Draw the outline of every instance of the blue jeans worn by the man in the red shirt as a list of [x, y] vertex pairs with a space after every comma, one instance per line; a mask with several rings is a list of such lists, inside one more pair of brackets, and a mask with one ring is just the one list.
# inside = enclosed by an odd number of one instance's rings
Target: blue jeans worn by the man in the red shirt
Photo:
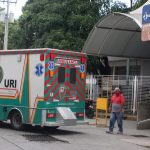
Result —
[[113, 131], [115, 122], [117, 120], [118, 128], [120, 132], [123, 132], [123, 113], [122, 112], [111, 112], [110, 114], [110, 124], [109, 131]]

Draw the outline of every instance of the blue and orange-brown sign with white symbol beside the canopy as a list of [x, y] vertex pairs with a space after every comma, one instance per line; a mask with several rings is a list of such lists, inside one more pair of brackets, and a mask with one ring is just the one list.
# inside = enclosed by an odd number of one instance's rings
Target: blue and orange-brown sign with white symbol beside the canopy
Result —
[[150, 4], [145, 5], [142, 10], [142, 41], [150, 41]]

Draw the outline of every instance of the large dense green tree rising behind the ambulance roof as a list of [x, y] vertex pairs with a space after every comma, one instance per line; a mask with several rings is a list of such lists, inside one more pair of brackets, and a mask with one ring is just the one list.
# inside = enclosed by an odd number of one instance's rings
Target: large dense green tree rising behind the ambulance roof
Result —
[[109, 12], [109, 0], [28, 0], [19, 19], [20, 45], [79, 51], [94, 24]]

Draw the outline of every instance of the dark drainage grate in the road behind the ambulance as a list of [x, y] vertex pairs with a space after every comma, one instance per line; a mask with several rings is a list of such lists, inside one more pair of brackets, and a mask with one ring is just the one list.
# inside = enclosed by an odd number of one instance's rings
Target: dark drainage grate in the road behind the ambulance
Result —
[[69, 143], [68, 141], [65, 140], [60, 140], [58, 138], [52, 137], [50, 135], [44, 135], [44, 134], [26, 134], [22, 135], [29, 141], [36, 141], [36, 142], [63, 142], [63, 143]]

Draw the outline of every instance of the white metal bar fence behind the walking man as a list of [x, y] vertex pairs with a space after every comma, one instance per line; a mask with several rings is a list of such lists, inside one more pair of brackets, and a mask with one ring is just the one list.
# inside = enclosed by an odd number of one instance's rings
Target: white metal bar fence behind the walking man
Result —
[[140, 103], [150, 104], [149, 76], [102, 76], [88, 75], [86, 79], [87, 99], [96, 101], [98, 97], [111, 98], [115, 87], [125, 96], [125, 112], [136, 113]]

